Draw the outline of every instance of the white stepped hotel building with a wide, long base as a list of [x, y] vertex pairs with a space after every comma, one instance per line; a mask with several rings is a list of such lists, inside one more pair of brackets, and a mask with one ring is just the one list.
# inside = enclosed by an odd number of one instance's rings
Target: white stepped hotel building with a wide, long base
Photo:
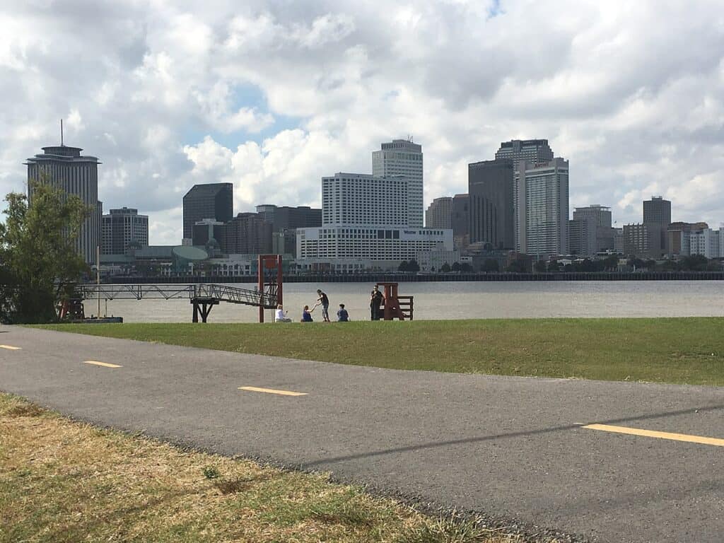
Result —
[[337, 173], [321, 185], [321, 227], [297, 230], [302, 269], [392, 270], [418, 251], [452, 251], [452, 230], [409, 224], [407, 177]]

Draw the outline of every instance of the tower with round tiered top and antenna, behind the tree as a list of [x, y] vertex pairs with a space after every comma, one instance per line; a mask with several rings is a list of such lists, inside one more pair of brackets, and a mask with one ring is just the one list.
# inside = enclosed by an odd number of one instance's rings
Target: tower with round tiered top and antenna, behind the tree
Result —
[[[61, 135], [62, 140], [62, 135]], [[33, 205], [33, 182], [48, 180], [51, 185], [78, 196], [91, 211], [85, 219], [75, 247], [88, 264], [95, 264], [96, 251], [101, 245], [101, 215], [103, 204], [98, 201], [98, 164], [95, 156], [81, 156], [81, 148], [43, 147], [43, 154], [33, 156], [28, 166], [28, 203]]]

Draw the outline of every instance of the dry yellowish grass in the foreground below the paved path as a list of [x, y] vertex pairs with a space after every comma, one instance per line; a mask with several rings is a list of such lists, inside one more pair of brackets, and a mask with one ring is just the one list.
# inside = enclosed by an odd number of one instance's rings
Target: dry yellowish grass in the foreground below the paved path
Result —
[[0, 542], [514, 543], [324, 474], [180, 450], [0, 394]]

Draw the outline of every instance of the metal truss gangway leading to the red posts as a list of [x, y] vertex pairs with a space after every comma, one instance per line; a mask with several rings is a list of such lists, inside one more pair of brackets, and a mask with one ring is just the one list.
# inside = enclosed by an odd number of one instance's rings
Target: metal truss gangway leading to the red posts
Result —
[[77, 285], [75, 296], [80, 300], [143, 300], [188, 298], [193, 305], [193, 322], [198, 322], [199, 313], [201, 321], [211, 313], [211, 308], [219, 302], [240, 303], [245, 306], [255, 306], [264, 309], [275, 309], [279, 296], [277, 285], [265, 285], [263, 291], [251, 290], [229, 285], [216, 285], [213, 283], [193, 284], [119, 284], [119, 285]]

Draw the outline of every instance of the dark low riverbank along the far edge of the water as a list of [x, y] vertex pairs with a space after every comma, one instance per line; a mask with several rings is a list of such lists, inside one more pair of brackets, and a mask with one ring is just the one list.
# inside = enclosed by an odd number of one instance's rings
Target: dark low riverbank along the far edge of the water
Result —
[[[287, 283], [375, 283], [375, 282], [449, 282], [449, 281], [720, 281], [724, 271], [556, 271], [552, 273], [487, 274], [287, 274]], [[256, 283], [256, 276], [185, 275], [177, 277], [106, 277], [104, 283]]]

